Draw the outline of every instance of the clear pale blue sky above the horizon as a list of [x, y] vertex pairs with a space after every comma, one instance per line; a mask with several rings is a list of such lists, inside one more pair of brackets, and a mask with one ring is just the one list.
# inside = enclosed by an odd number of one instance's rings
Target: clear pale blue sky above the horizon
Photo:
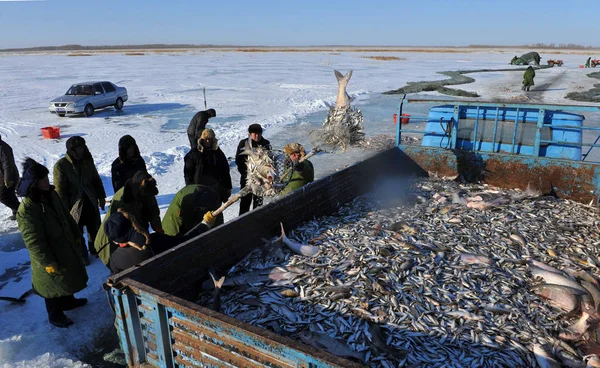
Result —
[[0, 48], [215, 45], [600, 46], [597, 0], [0, 0]]

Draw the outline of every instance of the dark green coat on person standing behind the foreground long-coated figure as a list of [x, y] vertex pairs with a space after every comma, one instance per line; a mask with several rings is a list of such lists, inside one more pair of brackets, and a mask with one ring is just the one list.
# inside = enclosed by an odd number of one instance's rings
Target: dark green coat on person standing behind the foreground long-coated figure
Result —
[[98, 209], [98, 199], [106, 198], [104, 186], [94, 159], [91, 155], [82, 160], [75, 160], [67, 152], [65, 157], [54, 164], [54, 185], [56, 192], [67, 206], [75, 222], [79, 222], [81, 211], [83, 210], [83, 200], [86, 198], [95, 209], [95, 216], [100, 222], [100, 211]]

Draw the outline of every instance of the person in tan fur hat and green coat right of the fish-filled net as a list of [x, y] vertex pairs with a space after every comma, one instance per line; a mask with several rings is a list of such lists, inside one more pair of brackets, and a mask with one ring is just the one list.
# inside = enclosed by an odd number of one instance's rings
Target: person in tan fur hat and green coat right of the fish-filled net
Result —
[[315, 170], [309, 160], [304, 160], [306, 151], [300, 143], [290, 143], [283, 147], [286, 154], [285, 172], [281, 180], [286, 183], [280, 195], [286, 195], [315, 180]]

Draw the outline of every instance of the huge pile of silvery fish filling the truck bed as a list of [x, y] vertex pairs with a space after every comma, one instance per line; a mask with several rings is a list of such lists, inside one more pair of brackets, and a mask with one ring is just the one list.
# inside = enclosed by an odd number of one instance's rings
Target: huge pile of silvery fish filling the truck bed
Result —
[[577, 286], [597, 283], [597, 208], [443, 179], [286, 234], [312, 256], [267, 241], [225, 275], [221, 312], [373, 367], [600, 361], [600, 293]]

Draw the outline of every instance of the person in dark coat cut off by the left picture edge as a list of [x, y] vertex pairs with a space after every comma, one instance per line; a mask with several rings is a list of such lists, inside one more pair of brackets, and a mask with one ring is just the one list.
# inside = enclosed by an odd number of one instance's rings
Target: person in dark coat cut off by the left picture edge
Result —
[[16, 220], [19, 200], [15, 186], [19, 181], [19, 170], [15, 164], [12, 148], [0, 137], [0, 203], [12, 210], [10, 220]]

